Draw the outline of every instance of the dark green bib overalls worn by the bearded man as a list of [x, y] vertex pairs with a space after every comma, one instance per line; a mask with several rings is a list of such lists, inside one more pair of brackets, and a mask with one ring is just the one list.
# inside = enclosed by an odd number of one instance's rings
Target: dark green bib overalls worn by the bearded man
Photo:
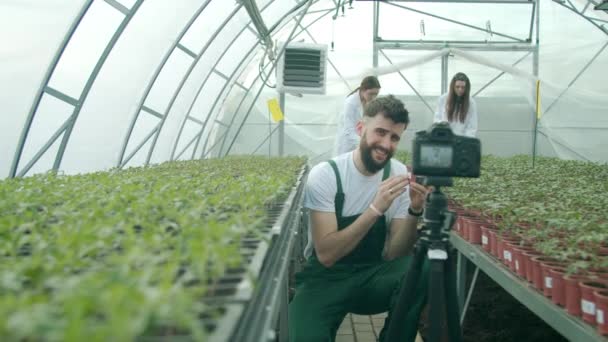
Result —
[[[338, 230], [348, 227], [359, 215], [343, 217], [344, 193], [338, 168], [329, 161], [336, 174], [335, 210]], [[390, 163], [382, 179], [390, 175]], [[335, 341], [336, 332], [347, 313], [374, 315], [388, 311], [384, 326], [388, 327], [400, 283], [407, 273], [410, 256], [391, 261], [382, 258], [387, 224], [378, 218], [367, 235], [348, 255], [332, 267], [323, 266], [313, 252], [304, 269], [296, 275], [296, 293], [289, 304], [289, 340], [297, 342]], [[418, 317], [426, 302], [428, 262], [416, 288], [416, 303], [403, 321], [406, 341], [414, 341]], [[386, 329], [380, 341], [386, 339]], [[391, 341], [392, 342], [392, 341]]]

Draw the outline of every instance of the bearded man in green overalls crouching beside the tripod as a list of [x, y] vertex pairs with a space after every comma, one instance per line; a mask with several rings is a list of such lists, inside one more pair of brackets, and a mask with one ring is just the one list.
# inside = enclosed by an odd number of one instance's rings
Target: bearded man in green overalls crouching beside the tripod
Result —
[[[357, 124], [359, 147], [311, 169], [304, 193], [308, 262], [289, 304], [290, 341], [334, 341], [347, 313], [388, 311], [380, 333], [385, 341], [426, 194], [410, 182], [405, 165], [391, 159], [408, 123], [401, 101], [376, 98]], [[398, 322], [407, 341], [416, 337], [427, 284], [425, 263], [416, 303]]]

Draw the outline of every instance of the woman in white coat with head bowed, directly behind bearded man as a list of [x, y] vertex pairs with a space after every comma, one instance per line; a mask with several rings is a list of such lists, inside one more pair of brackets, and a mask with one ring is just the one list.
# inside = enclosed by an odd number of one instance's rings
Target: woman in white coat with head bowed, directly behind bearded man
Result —
[[355, 129], [363, 116], [363, 107], [375, 99], [380, 92], [380, 81], [376, 76], [367, 76], [361, 85], [348, 95], [338, 117], [338, 129], [334, 143], [334, 154], [350, 152], [359, 146], [359, 135]]

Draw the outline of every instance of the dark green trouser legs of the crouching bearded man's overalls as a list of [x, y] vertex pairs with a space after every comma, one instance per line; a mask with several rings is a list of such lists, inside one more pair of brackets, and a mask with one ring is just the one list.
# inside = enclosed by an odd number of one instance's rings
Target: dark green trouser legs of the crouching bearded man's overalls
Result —
[[[312, 262], [296, 275], [296, 294], [289, 304], [289, 340], [334, 341], [348, 313], [374, 315], [388, 311], [380, 341], [386, 340], [401, 282], [412, 257], [401, 257], [376, 265], [334, 265], [325, 268]], [[423, 265], [414, 294], [415, 304], [403, 322], [406, 341], [414, 341], [418, 318], [428, 289], [428, 261]], [[392, 342], [392, 341], [391, 341]]]

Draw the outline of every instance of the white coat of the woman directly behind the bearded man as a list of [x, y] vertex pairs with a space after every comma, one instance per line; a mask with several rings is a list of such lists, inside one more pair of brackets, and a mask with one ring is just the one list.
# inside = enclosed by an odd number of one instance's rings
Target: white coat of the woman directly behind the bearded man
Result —
[[344, 101], [344, 108], [338, 118], [336, 140], [334, 143], [334, 155], [353, 151], [359, 146], [359, 134], [357, 134], [357, 122], [363, 116], [363, 104], [359, 97], [359, 91], [349, 95]]

